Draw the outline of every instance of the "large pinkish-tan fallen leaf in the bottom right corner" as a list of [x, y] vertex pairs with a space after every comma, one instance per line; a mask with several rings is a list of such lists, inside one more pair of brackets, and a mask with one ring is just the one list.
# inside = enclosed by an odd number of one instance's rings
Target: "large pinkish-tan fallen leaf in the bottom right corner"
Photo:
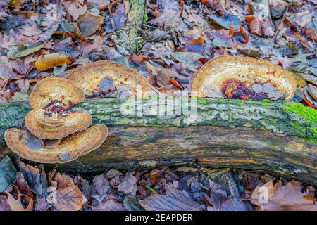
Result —
[[282, 181], [276, 184], [273, 180], [268, 181], [261, 187], [257, 186], [251, 198], [259, 211], [317, 211], [315, 198], [307, 190], [302, 193], [299, 181], [290, 181], [285, 186], [282, 186]]

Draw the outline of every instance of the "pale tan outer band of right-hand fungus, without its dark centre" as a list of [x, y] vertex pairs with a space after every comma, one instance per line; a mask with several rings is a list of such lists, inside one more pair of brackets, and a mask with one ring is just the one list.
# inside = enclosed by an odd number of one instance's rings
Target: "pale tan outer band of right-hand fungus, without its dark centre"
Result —
[[252, 84], [271, 84], [285, 100], [292, 98], [297, 89], [297, 81], [291, 72], [267, 60], [220, 56], [209, 60], [194, 74], [192, 95], [211, 97], [211, 91], [224, 94], [224, 86], [229, 83], [247, 88]]

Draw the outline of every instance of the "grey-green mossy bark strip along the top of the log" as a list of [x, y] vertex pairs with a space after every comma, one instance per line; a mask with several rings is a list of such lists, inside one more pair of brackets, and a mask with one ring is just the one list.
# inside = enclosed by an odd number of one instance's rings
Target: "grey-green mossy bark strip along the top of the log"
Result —
[[[187, 127], [190, 125], [211, 125], [216, 127], [247, 126], [266, 129], [274, 133], [284, 133], [304, 137], [310, 142], [317, 141], [317, 112], [301, 103], [244, 101], [221, 98], [196, 98], [197, 120], [186, 115], [123, 115], [124, 107], [134, 106], [134, 99], [93, 98], [75, 105], [73, 110], [87, 110], [92, 114], [94, 124], [107, 126], [149, 126]], [[161, 98], [152, 101], [161, 101]], [[144, 100], [147, 103], [149, 100]], [[183, 101], [187, 101], [185, 98]], [[163, 101], [163, 104], [164, 101]], [[189, 103], [190, 105], [190, 103]], [[26, 102], [0, 105], [0, 143], [4, 143], [4, 131], [10, 127], [21, 127], [24, 117], [31, 110]]]

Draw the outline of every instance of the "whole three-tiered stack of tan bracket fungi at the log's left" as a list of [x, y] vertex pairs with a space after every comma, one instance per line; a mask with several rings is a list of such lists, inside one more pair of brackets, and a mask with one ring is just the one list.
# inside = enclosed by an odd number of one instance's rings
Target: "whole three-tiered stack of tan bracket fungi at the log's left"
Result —
[[6, 130], [8, 147], [27, 160], [42, 163], [69, 162], [98, 148], [108, 136], [108, 128], [101, 124], [89, 127], [92, 116], [74, 110], [84, 98], [84, 91], [69, 79], [49, 77], [37, 82], [25, 128]]

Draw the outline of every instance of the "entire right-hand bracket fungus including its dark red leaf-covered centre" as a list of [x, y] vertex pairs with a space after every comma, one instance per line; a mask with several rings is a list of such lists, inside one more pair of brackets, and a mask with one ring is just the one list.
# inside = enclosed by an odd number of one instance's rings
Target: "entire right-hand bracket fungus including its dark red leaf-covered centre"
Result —
[[294, 96], [297, 81], [291, 72], [266, 60], [220, 56], [192, 77], [191, 88], [199, 97], [287, 100]]

